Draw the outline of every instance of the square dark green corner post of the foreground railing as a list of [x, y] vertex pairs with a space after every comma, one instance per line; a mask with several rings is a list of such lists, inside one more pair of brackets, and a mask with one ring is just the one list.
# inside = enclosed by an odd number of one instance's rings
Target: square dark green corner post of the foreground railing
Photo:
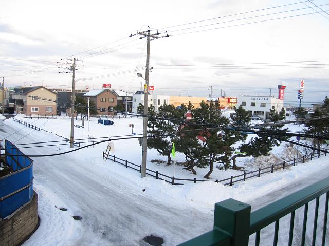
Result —
[[232, 236], [232, 245], [248, 245], [251, 206], [234, 199], [215, 204], [214, 230]]

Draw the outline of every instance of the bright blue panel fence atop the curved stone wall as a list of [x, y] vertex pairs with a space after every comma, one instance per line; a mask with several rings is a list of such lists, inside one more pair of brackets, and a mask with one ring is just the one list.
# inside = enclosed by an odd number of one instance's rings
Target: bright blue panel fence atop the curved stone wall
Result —
[[33, 198], [33, 160], [8, 140], [5, 140], [5, 154], [11, 172], [0, 177], [0, 220], [13, 215]]

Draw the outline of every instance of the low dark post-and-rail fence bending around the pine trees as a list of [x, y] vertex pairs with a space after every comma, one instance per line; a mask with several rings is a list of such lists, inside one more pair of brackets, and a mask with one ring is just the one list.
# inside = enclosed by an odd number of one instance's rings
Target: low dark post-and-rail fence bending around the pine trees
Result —
[[[254, 178], [254, 177], [261, 177], [262, 174], [265, 173], [273, 173], [274, 171], [277, 170], [281, 170], [281, 169], [286, 169], [288, 167], [291, 166], [296, 166], [298, 163], [304, 163], [306, 160], [313, 160], [314, 158], [320, 158], [320, 156], [326, 156], [326, 152], [324, 153], [318, 153], [316, 155], [313, 155], [313, 153], [311, 153], [309, 156], [302, 156], [302, 157], [298, 157], [294, 158], [292, 160], [289, 161], [283, 161], [281, 163], [278, 163], [276, 165], [271, 165], [265, 168], [259, 168], [258, 170], [254, 170], [254, 171], [250, 171], [250, 172], [244, 172], [243, 174], [240, 175], [236, 175], [236, 176], [231, 176], [229, 178], [225, 178], [225, 179], [221, 179], [218, 180], [216, 179], [217, 183], [224, 183], [225, 186], [232, 186], [234, 183], [236, 182], [241, 182], [241, 181], [246, 181], [249, 178]], [[124, 160], [121, 158], [116, 157], [115, 155], [109, 155], [109, 154], [105, 154], [105, 152], [103, 151], [103, 157], [109, 160], [113, 160], [113, 162], [117, 162], [123, 166], [125, 166], [126, 168], [131, 168], [134, 169], [136, 171], [139, 171], [141, 173], [141, 165], [137, 165], [135, 163], [132, 163], [128, 160]], [[146, 169], [147, 172], [146, 174], [155, 177], [156, 179], [161, 179], [161, 180], [165, 180], [168, 183], [171, 183], [172, 185], [184, 185], [183, 183], [179, 183], [177, 181], [191, 181], [191, 182], [205, 182], [205, 181], [210, 181], [210, 180], [203, 180], [203, 179], [188, 179], [188, 178], [175, 178], [174, 176], [170, 177], [168, 175], [162, 174], [158, 171], [154, 171], [151, 169]], [[148, 172], [149, 171], [149, 172]]]

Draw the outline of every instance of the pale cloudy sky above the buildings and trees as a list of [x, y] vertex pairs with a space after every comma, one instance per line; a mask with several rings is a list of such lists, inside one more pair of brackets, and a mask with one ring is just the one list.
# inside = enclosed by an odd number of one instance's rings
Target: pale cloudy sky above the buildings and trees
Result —
[[329, 94], [328, 28], [322, 0], [3, 0], [0, 71], [7, 87], [70, 88], [65, 68], [77, 58], [76, 88], [135, 93], [146, 38], [129, 36], [150, 29], [160, 33], [150, 44], [155, 94], [277, 97], [284, 83], [285, 103], [296, 105], [304, 79], [306, 106]]

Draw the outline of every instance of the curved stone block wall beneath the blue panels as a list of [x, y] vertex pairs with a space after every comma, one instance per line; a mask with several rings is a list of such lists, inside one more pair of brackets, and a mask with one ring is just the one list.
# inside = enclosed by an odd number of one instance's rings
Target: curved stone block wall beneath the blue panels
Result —
[[38, 228], [38, 195], [9, 219], [0, 221], [0, 245], [17, 246], [25, 242]]

